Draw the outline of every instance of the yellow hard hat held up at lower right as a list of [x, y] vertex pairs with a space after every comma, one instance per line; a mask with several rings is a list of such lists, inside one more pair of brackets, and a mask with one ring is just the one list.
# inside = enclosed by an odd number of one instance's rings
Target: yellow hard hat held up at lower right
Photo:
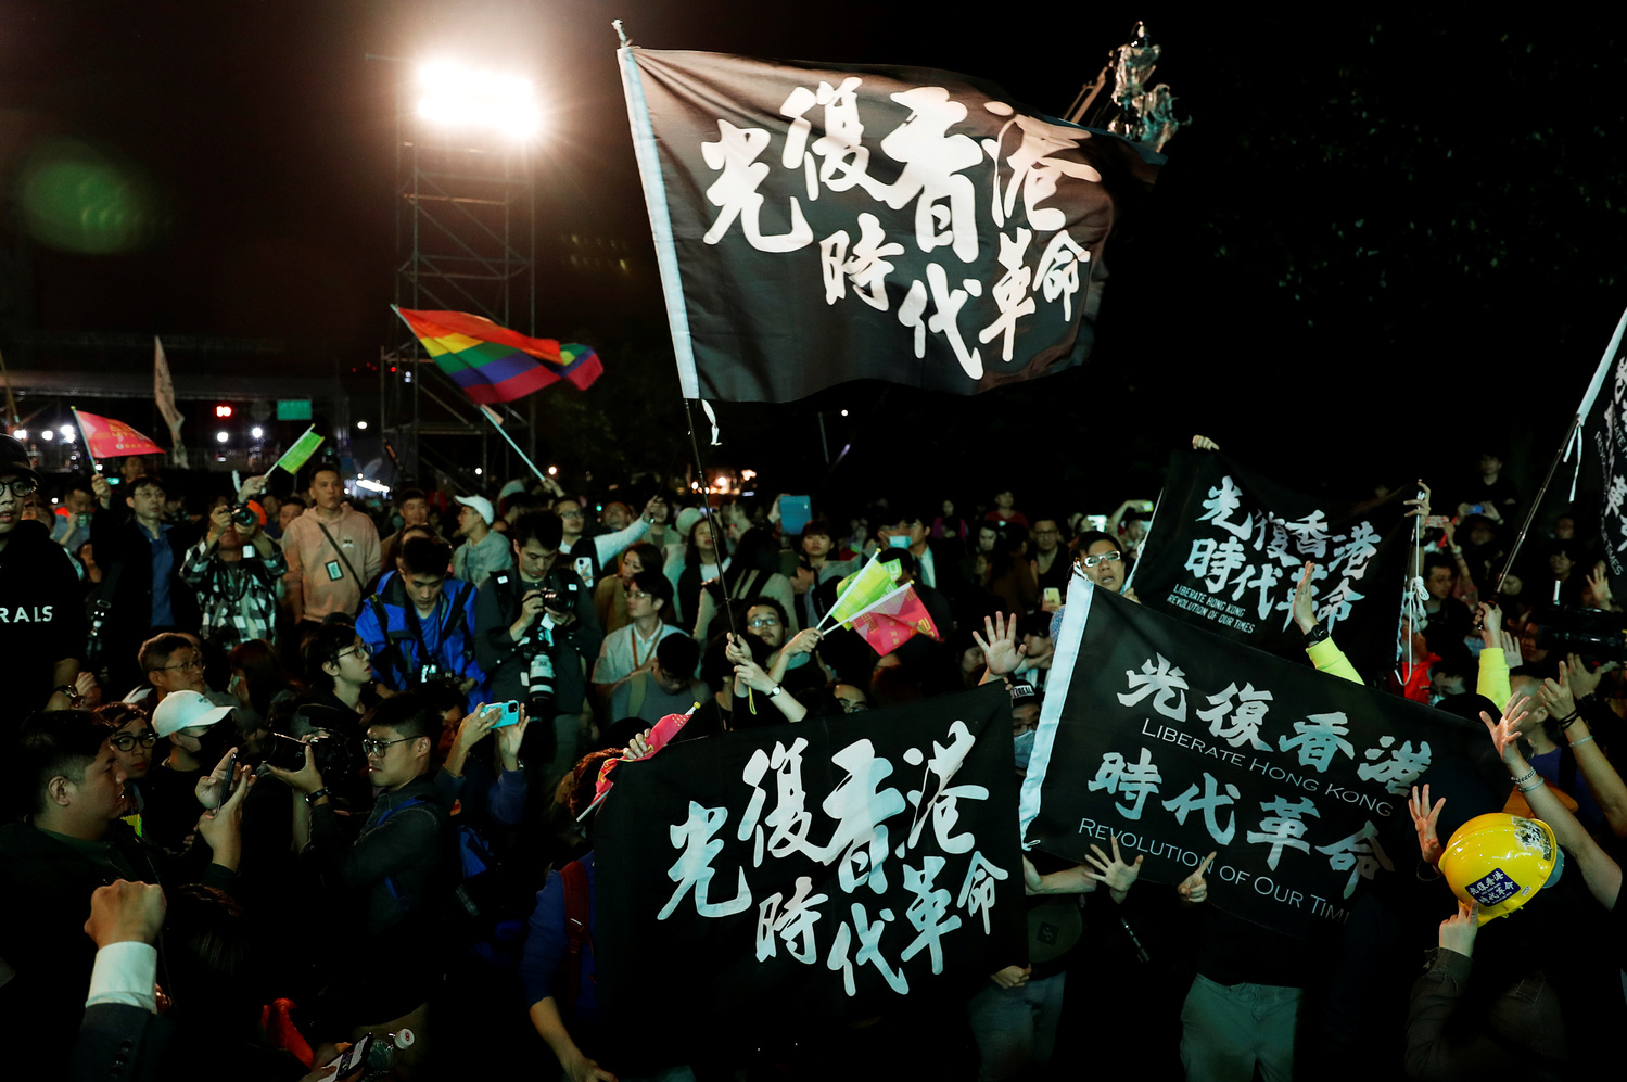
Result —
[[1481, 924], [1507, 916], [1559, 880], [1565, 854], [1539, 818], [1507, 812], [1476, 815], [1453, 835], [1440, 857], [1451, 893], [1481, 906]]

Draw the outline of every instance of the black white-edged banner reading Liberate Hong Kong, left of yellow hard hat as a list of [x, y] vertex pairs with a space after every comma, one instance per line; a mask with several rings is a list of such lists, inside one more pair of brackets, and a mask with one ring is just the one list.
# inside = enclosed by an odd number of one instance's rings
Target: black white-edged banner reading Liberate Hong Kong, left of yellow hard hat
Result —
[[1489, 753], [1479, 722], [1075, 578], [1022, 788], [1023, 843], [1079, 861], [1116, 833], [1150, 883], [1178, 883], [1217, 851], [1215, 906], [1305, 936], [1344, 921], [1365, 880], [1414, 874], [1414, 783], [1446, 797], [1442, 840], [1500, 809], [1508, 779], [1485, 770]]

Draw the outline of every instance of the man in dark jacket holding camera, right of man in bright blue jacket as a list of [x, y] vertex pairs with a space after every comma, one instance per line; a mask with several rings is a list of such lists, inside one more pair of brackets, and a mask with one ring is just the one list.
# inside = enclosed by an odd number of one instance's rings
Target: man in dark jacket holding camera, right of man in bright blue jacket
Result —
[[582, 674], [604, 641], [592, 594], [560, 558], [563, 535], [553, 511], [514, 519], [514, 566], [493, 573], [475, 596], [475, 657], [491, 675], [491, 698], [519, 700], [532, 721], [552, 726], [550, 773], [576, 761], [587, 705]]

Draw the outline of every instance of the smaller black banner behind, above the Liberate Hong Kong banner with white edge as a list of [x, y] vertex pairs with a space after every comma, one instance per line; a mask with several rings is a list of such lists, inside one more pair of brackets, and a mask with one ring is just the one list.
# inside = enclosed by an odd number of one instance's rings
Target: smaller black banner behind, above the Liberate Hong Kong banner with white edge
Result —
[[1412, 521], [1407, 491], [1331, 504], [1217, 452], [1176, 451], [1131, 584], [1144, 605], [1305, 661], [1293, 589], [1316, 563], [1316, 617], [1363, 678], [1396, 664]]

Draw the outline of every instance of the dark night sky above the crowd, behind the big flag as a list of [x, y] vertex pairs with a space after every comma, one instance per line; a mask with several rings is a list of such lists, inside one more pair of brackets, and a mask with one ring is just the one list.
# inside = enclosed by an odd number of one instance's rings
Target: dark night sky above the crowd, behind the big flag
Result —
[[[0, 5], [0, 347], [10, 358], [23, 332], [277, 338], [290, 369], [356, 368], [364, 394], [376, 386], [364, 366], [397, 334], [394, 88], [408, 72], [364, 55], [485, 60], [529, 75], [548, 107], [537, 330], [605, 361], [586, 395], [543, 392], [547, 452], [568, 467], [665, 465], [682, 407], [617, 16], [652, 49], [940, 67], [1058, 114], [1142, 18], [1163, 46], [1154, 81], [1193, 117], [1110, 242], [1084, 369], [976, 399], [864, 386], [724, 407], [719, 460], [770, 486], [817, 491], [815, 410], [849, 407], [828, 418], [833, 444], [854, 443], [835, 486], [924, 478], [934, 496], [986, 498], [1014, 485], [1106, 511], [1152, 496], [1168, 447], [1204, 431], [1339, 495], [1459, 475], [1490, 441], [1529, 490], [1627, 304], [1619, 23], [1308, 23], [1171, 5], [991, 5], [957, 20], [945, 5], [844, 2], [50, 0]], [[129, 251], [63, 251], [31, 225], [29, 169], [63, 146], [129, 181]], [[573, 273], [569, 234], [626, 242], [633, 270]]]

